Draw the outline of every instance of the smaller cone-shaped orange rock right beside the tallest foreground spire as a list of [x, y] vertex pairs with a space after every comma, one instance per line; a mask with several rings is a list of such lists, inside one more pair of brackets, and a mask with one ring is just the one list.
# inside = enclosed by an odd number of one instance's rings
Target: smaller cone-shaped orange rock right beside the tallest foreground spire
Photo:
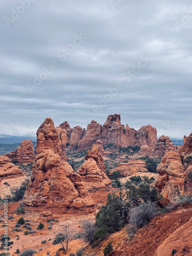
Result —
[[104, 161], [97, 145], [92, 146], [85, 159], [86, 161], [81, 165], [78, 173], [87, 189], [102, 188], [111, 184], [110, 179], [105, 174]]

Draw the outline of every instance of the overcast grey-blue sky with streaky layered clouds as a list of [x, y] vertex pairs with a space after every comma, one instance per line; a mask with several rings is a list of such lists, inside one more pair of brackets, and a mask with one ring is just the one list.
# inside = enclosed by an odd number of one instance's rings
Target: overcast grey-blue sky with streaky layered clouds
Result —
[[0, 0], [0, 134], [103, 124], [192, 132], [189, 0]]

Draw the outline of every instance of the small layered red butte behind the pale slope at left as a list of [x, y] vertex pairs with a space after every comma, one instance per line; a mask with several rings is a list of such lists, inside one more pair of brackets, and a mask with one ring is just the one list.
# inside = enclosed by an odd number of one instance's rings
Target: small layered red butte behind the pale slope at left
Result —
[[24, 140], [15, 151], [7, 153], [10, 160], [17, 160], [18, 163], [32, 163], [34, 160], [34, 148], [32, 140]]

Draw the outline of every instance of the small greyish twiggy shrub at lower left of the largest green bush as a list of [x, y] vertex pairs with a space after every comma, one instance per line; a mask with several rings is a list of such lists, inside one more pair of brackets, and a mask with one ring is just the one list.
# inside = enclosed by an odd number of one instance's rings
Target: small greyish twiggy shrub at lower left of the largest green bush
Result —
[[96, 231], [96, 225], [92, 220], [84, 220], [81, 225], [83, 231], [83, 240], [89, 244], [94, 242], [94, 233]]

